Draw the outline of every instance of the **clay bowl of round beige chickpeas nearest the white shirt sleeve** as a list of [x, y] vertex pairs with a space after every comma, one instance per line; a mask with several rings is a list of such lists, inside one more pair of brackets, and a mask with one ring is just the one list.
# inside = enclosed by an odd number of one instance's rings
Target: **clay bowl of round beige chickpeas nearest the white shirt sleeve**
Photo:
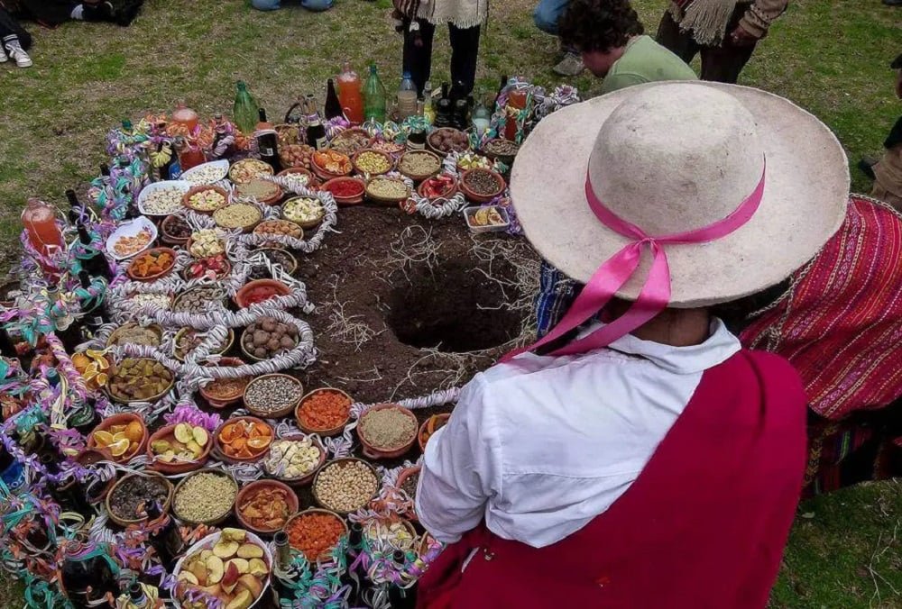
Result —
[[366, 507], [379, 492], [376, 470], [363, 459], [328, 462], [313, 479], [313, 498], [336, 514], [350, 514]]

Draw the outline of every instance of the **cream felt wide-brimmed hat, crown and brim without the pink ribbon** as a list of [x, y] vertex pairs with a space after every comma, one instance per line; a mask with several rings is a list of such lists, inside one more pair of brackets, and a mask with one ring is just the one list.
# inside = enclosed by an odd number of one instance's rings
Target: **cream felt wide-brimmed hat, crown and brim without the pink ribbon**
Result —
[[[635, 241], [586, 201], [586, 176], [613, 214], [650, 236], [723, 220], [758, 186], [758, 210], [734, 232], [664, 245], [669, 306], [729, 302], [773, 286], [815, 257], [845, 216], [848, 162], [833, 133], [792, 102], [710, 82], [631, 86], [567, 106], [520, 148], [511, 198], [543, 258], [587, 282]], [[636, 300], [651, 256], [617, 292]]]

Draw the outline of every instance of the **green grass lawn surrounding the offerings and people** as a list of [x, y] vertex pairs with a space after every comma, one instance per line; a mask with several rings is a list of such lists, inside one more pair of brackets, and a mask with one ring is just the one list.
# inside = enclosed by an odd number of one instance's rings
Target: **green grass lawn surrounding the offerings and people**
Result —
[[[286, 3], [288, 4], [288, 3]], [[637, 0], [649, 32], [665, 0]], [[358, 71], [375, 60], [386, 85], [400, 77], [400, 37], [389, 0], [338, 0], [326, 14], [290, 6], [253, 12], [242, 0], [148, 0], [131, 28], [70, 23], [30, 25], [34, 67], [0, 65], [0, 243], [15, 255], [18, 214], [38, 195], [64, 204], [106, 159], [106, 130], [124, 118], [171, 109], [184, 100], [208, 117], [230, 112], [236, 79], [246, 80], [273, 118], [298, 95], [325, 95], [342, 59]], [[501, 74], [545, 86], [557, 41], [532, 25], [526, 0], [496, 2], [483, 38], [479, 82]], [[902, 51], [902, 9], [879, 0], [794, 0], [742, 77], [742, 84], [786, 95], [837, 133], [854, 163], [879, 153], [902, 112], [888, 63]], [[433, 80], [447, 76], [447, 43], [437, 35]], [[586, 95], [592, 77], [573, 84]], [[870, 185], [857, 170], [853, 186]], [[777, 607], [902, 607], [902, 486], [859, 486], [804, 504], [773, 595]], [[0, 578], [0, 604], [22, 604]]]

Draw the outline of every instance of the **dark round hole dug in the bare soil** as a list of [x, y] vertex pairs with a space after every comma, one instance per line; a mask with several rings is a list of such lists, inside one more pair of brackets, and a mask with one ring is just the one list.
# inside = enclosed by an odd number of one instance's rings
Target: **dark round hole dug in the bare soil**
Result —
[[[503, 306], [520, 298], [519, 290], [502, 288], [476, 270], [489, 272], [478, 259], [442, 260], [435, 268], [419, 264], [392, 277], [388, 323], [398, 340], [418, 349], [463, 353], [502, 345], [520, 335], [521, 311]], [[495, 277], [511, 279], [513, 268], [492, 263]]]

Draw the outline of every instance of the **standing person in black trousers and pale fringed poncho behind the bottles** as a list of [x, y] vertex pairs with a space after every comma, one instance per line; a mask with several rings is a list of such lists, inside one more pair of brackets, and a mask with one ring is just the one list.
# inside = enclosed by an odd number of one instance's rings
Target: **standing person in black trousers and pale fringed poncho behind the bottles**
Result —
[[410, 72], [417, 95], [432, 74], [436, 26], [447, 23], [451, 42], [451, 97], [473, 92], [479, 36], [489, 14], [489, 0], [394, 0], [392, 16], [404, 35], [403, 70]]

